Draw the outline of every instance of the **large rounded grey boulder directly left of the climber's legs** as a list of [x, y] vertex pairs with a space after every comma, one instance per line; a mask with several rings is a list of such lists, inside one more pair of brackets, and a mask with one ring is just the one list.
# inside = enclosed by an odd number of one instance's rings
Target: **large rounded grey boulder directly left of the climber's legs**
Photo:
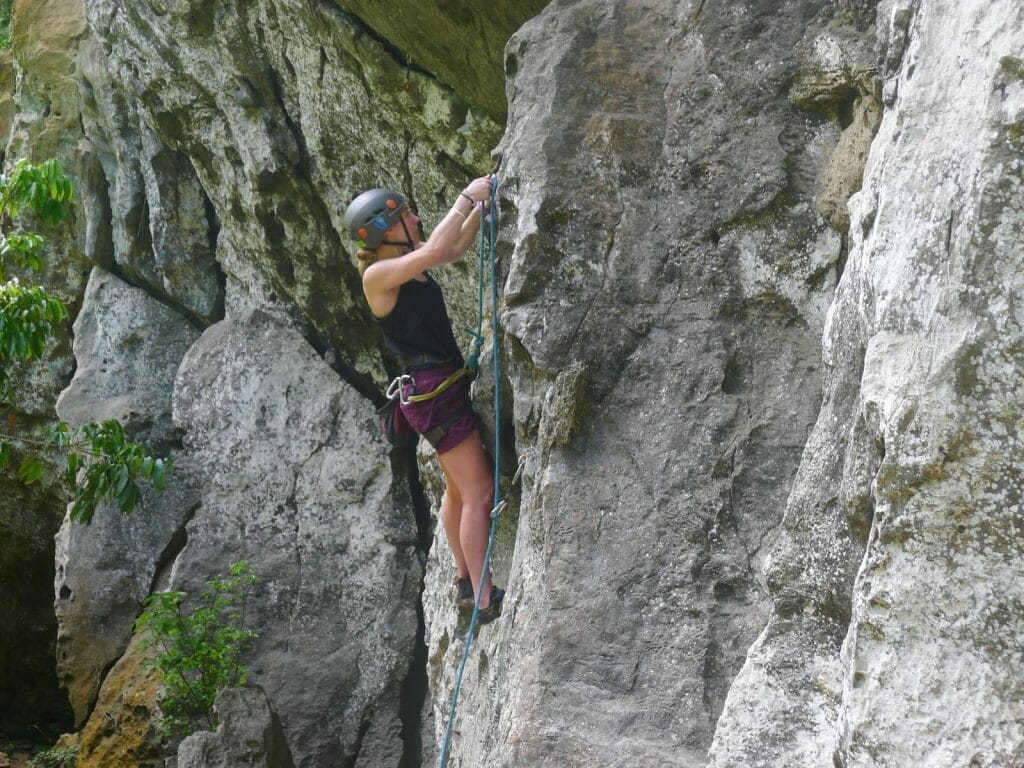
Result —
[[[422, 564], [408, 486], [372, 416], [301, 336], [262, 313], [211, 327], [175, 382], [202, 501], [171, 582], [194, 591], [252, 563], [250, 680], [280, 713], [297, 765], [401, 759]], [[361, 734], [381, 729], [393, 737], [360, 754]]]

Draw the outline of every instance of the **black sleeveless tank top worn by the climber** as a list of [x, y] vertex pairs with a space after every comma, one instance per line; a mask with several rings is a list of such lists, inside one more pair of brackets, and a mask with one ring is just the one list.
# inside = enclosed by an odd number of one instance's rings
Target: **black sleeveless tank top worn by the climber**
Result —
[[391, 351], [407, 358], [423, 354], [461, 357], [441, 288], [429, 274], [426, 276], [425, 283], [403, 283], [394, 308], [376, 318], [384, 331], [384, 341]]

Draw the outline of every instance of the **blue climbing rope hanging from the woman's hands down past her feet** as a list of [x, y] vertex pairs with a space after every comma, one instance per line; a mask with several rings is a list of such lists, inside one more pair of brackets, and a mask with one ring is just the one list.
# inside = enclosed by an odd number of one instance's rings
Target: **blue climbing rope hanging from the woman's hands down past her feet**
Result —
[[[476, 338], [474, 339], [475, 350], [473, 355], [470, 355], [471, 361], [475, 361], [475, 354], [479, 351], [479, 344], [482, 343], [482, 330], [483, 330], [483, 269], [484, 269], [484, 254], [488, 257], [490, 262], [490, 314], [492, 314], [492, 344], [490, 344], [490, 356], [494, 359], [494, 370], [495, 370], [495, 504], [490, 510], [490, 537], [487, 540], [487, 551], [483, 555], [483, 568], [480, 571], [480, 581], [478, 584], [483, 584], [486, 579], [487, 571], [490, 567], [490, 553], [495, 547], [495, 539], [498, 537], [498, 518], [501, 516], [502, 507], [505, 506], [505, 502], [502, 501], [502, 490], [501, 490], [501, 466], [502, 466], [502, 431], [501, 431], [501, 355], [498, 353], [498, 278], [497, 269], [495, 267], [495, 240], [497, 232], [497, 219], [498, 219], [498, 207], [496, 201], [498, 198], [498, 176], [495, 175], [490, 180], [490, 200], [489, 211], [490, 215], [487, 217], [487, 227], [484, 227], [485, 222], [480, 224], [480, 254], [478, 260], [478, 272], [479, 272], [479, 305], [477, 314], [477, 331]], [[482, 214], [482, 211], [481, 211]], [[484, 240], [487, 243], [484, 243]], [[478, 343], [477, 343], [478, 342]], [[462, 663], [459, 665], [459, 673], [456, 675], [455, 688], [452, 691], [452, 707], [449, 710], [449, 722], [444, 729], [444, 741], [441, 744], [441, 755], [440, 759], [437, 761], [437, 768], [445, 768], [447, 765], [447, 755], [449, 748], [452, 744], [452, 731], [455, 727], [455, 713], [456, 708], [459, 705], [459, 691], [462, 688], [462, 677], [466, 672], [466, 662], [469, 659], [469, 649], [473, 644], [473, 635], [476, 632], [476, 617], [480, 612], [480, 595], [482, 595], [482, 590], [476, 596], [476, 601], [473, 603], [473, 615], [469, 620], [469, 630], [466, 633], [466, 643], [462, 651]]]

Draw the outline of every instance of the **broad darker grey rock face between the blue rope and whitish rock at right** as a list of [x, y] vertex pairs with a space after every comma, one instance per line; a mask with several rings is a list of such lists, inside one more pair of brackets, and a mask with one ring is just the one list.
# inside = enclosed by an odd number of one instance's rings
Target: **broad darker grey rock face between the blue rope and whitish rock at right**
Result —
[[[815, 201], [844, 126], [791, 87], [849, 103], [873, 62], [831, 13], [555, 2], [509, 42], [502, 319], [524, 473], [454, 764], [703, 764], [817, 414], [842, 234]], [[463, 649], [451, 582], [428, 582], [438, 733]]]

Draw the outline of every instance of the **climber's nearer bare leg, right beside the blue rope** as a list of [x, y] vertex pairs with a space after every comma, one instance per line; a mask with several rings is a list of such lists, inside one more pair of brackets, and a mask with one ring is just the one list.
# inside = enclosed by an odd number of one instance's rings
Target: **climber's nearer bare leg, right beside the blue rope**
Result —
[[473, 580], [473, 591], [479, 596], [480, 607], [485, 608], [490, 604], [490, 574], [485, 573], [480, 583], [480, 571], [487, 552], [495, 486], [483, 455], [480, 433], [474, 431], [451, 451], [438, 455], [437, 459], [445, 477], [462, 498], [459, 541], [469, 566], [469, 578]]

